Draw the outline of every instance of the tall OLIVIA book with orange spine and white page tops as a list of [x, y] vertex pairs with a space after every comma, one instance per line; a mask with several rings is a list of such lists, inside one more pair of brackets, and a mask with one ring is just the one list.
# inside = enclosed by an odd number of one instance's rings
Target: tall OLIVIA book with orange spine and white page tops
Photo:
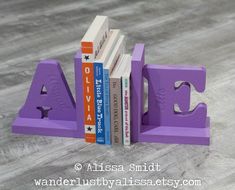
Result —
[[109, 31], [108, 17], [96, 16], [81, 41], [85, 141], [96, 142], [94, 60]]

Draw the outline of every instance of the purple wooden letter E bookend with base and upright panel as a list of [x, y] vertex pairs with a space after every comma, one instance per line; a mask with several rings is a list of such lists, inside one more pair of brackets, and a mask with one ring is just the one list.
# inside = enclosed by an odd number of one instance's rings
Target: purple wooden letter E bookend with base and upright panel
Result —
[[[205, 90], [206, 70], [195, 66], [144, 65], [144, 45], [132, 55], [132, 142], [209, 145], [207, 106], [190, 107], [190, 87]], [[148, 81], [148, 111], [143, 113], [143, 77]], [[176, 82], [181, 82], [176, 86]], [[183, 82], [182, 82], [183, 81]], [[174, 110], [178, 104], [181, 112]]]

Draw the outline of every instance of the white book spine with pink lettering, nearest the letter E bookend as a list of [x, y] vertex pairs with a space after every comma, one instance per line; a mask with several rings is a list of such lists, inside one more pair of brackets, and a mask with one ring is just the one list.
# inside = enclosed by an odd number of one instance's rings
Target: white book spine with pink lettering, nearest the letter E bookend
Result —
[[122, 78], [122, 117], [123, 144], [130, 145], [130, 80], [128, 77]]

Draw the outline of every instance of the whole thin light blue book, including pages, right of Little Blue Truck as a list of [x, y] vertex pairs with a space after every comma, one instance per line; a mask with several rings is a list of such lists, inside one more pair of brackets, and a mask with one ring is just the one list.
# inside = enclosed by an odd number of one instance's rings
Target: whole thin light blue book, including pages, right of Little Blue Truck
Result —
[[112, 54], [107, 62], [104, 65], [103, 70], [103, 81], [104, 81], [104, 125], [105, 125], [105, 144], [111, 144], [111, 116], [110, 116], [110, 74], [118, 62], [118, 59], [124, 53], [125, 37], [121, 35], [116, 43]]

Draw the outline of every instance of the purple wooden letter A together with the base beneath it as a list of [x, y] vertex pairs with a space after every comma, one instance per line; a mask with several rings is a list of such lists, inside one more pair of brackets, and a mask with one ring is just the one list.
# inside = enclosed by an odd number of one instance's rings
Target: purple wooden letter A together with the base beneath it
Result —
[[24, 106], [13, 122], [12, 132], [21, 134], [82, 137], [76, 106], [60, 64], [41, 61]]

